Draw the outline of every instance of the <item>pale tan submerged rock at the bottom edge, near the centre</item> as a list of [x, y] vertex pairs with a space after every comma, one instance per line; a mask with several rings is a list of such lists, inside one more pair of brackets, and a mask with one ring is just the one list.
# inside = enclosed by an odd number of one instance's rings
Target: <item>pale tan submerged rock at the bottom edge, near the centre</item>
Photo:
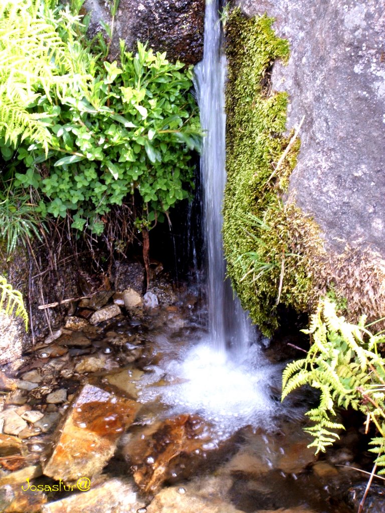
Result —
[[164, 488], [147, 506], [147, 513], [241, 513], [232, 504], [192, 495], [188, 486]]

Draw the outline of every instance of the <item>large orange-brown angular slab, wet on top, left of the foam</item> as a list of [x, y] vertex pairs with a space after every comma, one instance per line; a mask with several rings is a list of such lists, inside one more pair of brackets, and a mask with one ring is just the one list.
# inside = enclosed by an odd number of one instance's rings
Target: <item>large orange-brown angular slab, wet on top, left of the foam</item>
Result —
[[56, 431], [45, 475], [65, 482], [97, 476], [140, 406], [107, 389], [85, 385]]

